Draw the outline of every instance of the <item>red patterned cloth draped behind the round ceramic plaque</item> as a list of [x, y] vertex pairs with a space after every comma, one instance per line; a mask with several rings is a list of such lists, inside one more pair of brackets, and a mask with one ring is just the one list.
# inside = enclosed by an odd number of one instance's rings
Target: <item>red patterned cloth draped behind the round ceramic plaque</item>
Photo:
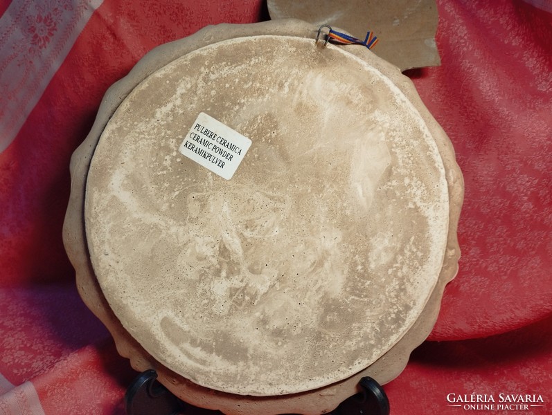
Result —
[[[385, 387], [391, 414], [463, 414], [450, 394], [472, 393], [495, 405], [500, 394], [543, 400], [482, 414], [550, 414], [552, 14], [522, 0], [440, 0], [438, 10], [443, 63], [409, 75], [463, 169], [463, 257], [434, 341]], [[265, 9], [21, 0], [0, 13], [0, 28], [19, 30], [0, 41], [0, 140], [15, 137], [0, 153], [0, 414], [123, 414], [135, 373], [80, 301], [62, 246], [69, 158], [106, 89], [148, 50], [207, 24], [258, 21]], [[60, 53], [45, 57], [69, 26]]]

